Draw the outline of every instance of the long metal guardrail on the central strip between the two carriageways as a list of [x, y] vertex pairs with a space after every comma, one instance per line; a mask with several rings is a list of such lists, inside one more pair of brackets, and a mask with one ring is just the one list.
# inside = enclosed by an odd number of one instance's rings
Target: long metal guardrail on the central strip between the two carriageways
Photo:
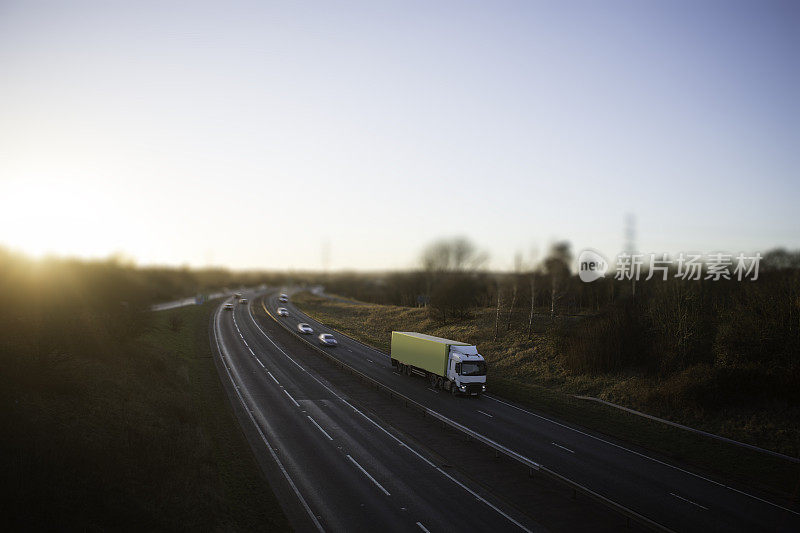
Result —
[[[264, 303], [264, 298], [263, 297], [261, 298], [261, 307], [264, 309], [264, 312], [267, 314], [267, 316], [272, 318], [272, 320], [274, 320], [277, 324], [279, 324], [281, 327], [283, 327], [286, 331], [288, 331], [289, 333], [294, 335], [294, 331], [292, 331], [292, 329], [289, 326], [287, 326], [281, 320], [278, 320], [275, 317], [275, 315], [273, 315], [269, 311], [269, 309], [267, 309], [267, 306]], [[663, 526], [663, 525], [659, 524], [658, 522], [655, 522], [655, 521], [647, 518], [646, 516], [643, 516], [643, 515], [637, 513], [636, 511], [634, 511], [632, 509], [628, 509], [624, 505], [621, 505], [621, 504], [619, 504], [619, 503], [617, 503], [617, 502], [615, 502], [613, 500], [610, 500], [610, 499], [606, 498], [605, 496], [603, 496], [602, 494], [599, 494], [599, 493], [591, 490], [588, 487], [584, 487], [580, 483], [572, 481], [571, 479], [568, 479], [568, 478], [562, 476], [561, 474], [550, 470], [549, 468], [537, 463], [536, 461], [533, 461], [533, 460], [525, 457], [524, 455], [520, 455], [519, 453], [517, 453], [517, 452], [515, 452], [513, 450], [509, 450], [508, 448], [506, 448], [502, 444], [500, 444], [498, 442], [495, 442], [494, 440], [492, 440], [492, 439], [490, 439], [490, 438], [488, 438], [488, 437], [486, 437], [484, 435], [481, 435], [480, 433], [477, 433], [477, 432], [469, 429], [468, 427], [459, 424], [458, 422], [456, 422], [454, 420], [450, 420], [449, 418], [447, 418], [443, 414], [438, 413], [438, 412], [434, 411], [433, 409], [430, 409], [430, 408], [422, 405], [421, 403], [417, 402], [416, 400], [412, 400], [408, 396], [395, 391], [394, 389], [392, 389], [391, 387], [381, 383], [380, 381], [378, 381], [378, 380], [376, 380], [376, 379], [374, 379], [374, 378], [372, 378], [370, 376], [367, 376], [366, 374], [364, 374], [363, 372], [361, 372], [359, 370], [356, 370], [355, 368], [353, 368], [352, 366], [348, 365], [347, 363], [345, 363], [341, 359], [338, 359], [338, 358], [334, 357], [331, 353], [329, 353], [326, 350], [323, 350], [322, 348], [320, 348], [316, 344], [310, 342], [308, 339], [305, 339], [305, 338], [303, 338], [303, 337], [301, 337], [299, 335], [294, 335], [294, 336], [296, 338], [300, 339], [301, 341], [305, 342], [308, 346], [310, 346], [311, 348], [313, 348], [317, 352], [319, 352], [322, 355], [324, 355], [328, 360], [332, 361], [335, 365], [338, 365], [339, 368], [349, 371], [351, 374], [356, 375], [361, 380], [366, 381], [370, 385], [374, 386], [376, 388], [376, 390], [383, 389], [384, 391], [387, 391], [389, 393], [390, 397], [398, 398], [398, 399], [402, 400], [407, 406], [414, 407], [414, 408], [422, 411], [424, 414], [430, 415], [431, 417], [439, 420], [443, 424], [446, 424], [446, 425], [450, 426], [451, 428], [455, 429], [456, 431], [464, 433], [468, 437], [470, 437], [470, 438], [472, 438], [472, 439], [474, 439], [474, 440], [476, 440], [476, 441], [488, 446], [489, 448], [492, 448], [496, 453], [502, 453], [503, 455], [505, 455], [505, 456], [507, 456], [507, 457], [509, 457], [509, 458], [511, 458], [511, 459], [513, 459], [513, 460], [525, 465], [526, 467], [528, 467], [530, 469], [529, 470], [529, 474], [530, 475], [533, 475], [533, 472], [541, 472], [541, 473], [544, 473], [544, 474], [550, 476], [554, 480], [559, 481], [559, 482], [567, 485], [573, 491], [580, 492], [581, 494], [584, 494], [584, 495], [592, 498], [593, 500], [603, 504], [604, 506], [610, 508], [611, 510], [621, 514], [622, 516], [624, 516], [628, 520], [628, 524], [629, 525], [630, 525], [630, 521], [633, 520], [633, 521], [635, 521], [635, 522], [637, 522], [637, 523], [639, 523], [639, 524], [641, 524], [641, 525], [643, 525], [643, 526], [645, 526], [647, 528], [653, 529], [655, 531], [663, 531], [663, 532], [668, 532], [668, 533], [674, 533], [674, 531], [672, 529], [669, 529], [668, 527]], [[360, 344], [363, 344], [363, 343], [360, 343]]]

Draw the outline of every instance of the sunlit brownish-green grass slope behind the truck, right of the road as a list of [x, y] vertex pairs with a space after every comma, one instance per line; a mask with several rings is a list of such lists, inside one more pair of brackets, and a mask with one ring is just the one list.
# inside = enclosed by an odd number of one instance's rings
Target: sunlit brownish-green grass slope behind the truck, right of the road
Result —
[[[619, 398], [649, 398], [669, 391], [639, 375], [569, 375], [549, 347], [544, 320], [538, 320], [532, 339], [505, 330], [494, 340], [494, 310], [478, 310], [472, 318], [439, 323], [424, 309], [375, 304], [349, 304], [300, 293], [293, 302], [310, 316], [386, 353], [391, 331], [419, 331], [476, 344], [489, 365], [487, 385], [499, 396], [528, 405], [546, 414], [619, 438], [711, 471], [726, 480], [791, 496], [800, 481], [800, 466], [773, 456], [726, 444], [666, 424], [648, 420], [596, 402], [579, 400], [575, 394], [597, 396], [615, 403]], [[527, 317], [520, 317], [518, 320]], [[519, 330], [519, 328], [518, 328]], [[662, 388], [659, 388], [662, 387]], [[649, 396], [648, 396], [649, 395]], [[647, 405], [631, 402], [626, 407], [647, 412]], [[799, 418], [794, 411], [745, 410], [728, 412], [651, 412], [698, 429], [780, 451], [796, 450]], [[758, 416], [756, 416], [756, 414]], [[775, 428], [782, 428], [776, 430]], [[795, 496], [796, 497], [796, 496]]]

